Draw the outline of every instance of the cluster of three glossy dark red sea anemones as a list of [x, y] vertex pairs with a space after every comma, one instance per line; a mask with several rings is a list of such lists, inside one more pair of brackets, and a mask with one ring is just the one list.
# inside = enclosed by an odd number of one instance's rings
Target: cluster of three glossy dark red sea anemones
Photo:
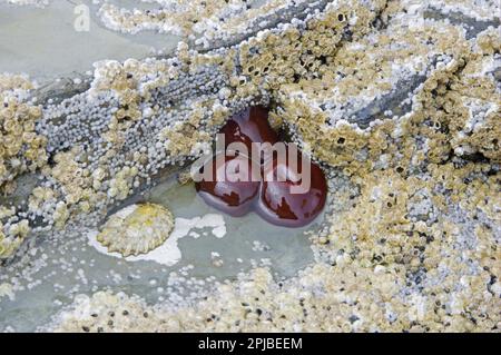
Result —
[[[305, 226], [318, 216], [327, 195], [325, 176], [294, 145], [279, 142], [266, 108], [249, 107], [236, 114], [220, 134], [226, 150], [203, 167], [209, 172], [196, 183], [207, 204], [235, 217], [254, 210], [271, 224], [286, 227]], [[244, 146], [236, 151], [232, 144]], [[268, 145], [253, 150], [253, 144]], [[279, 144], [282, 151], [275, 149]]]

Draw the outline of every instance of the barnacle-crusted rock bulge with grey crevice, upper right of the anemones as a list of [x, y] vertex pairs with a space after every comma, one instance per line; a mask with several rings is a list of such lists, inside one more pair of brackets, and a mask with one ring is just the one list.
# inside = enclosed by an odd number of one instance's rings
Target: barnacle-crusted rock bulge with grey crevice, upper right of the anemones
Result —
[[[277, 115], [306, 149], [348, 175], [392, 164], [403, 172], [443, 162], [451, 149], [498, 161], [499, 58], [484, 58], [455, 27], [430, 22], [410, 32], [405, 21], [340, 49], [335, 72], [281, 87]], [[479, 34], [497, 52], [499, 40], [493, 30]], [[399, 97], [412, 81], [405, 93], [415, 95]]]

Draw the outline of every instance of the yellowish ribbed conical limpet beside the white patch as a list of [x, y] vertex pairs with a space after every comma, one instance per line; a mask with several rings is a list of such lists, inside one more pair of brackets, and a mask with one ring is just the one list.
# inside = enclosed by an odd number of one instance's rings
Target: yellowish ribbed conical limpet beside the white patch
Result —
[[147, 254], [159, 247], [174, 228], [174, 216], [154, 204], [130, 205], [111, 215], [97, 236], [109, 253], [124, 257]]

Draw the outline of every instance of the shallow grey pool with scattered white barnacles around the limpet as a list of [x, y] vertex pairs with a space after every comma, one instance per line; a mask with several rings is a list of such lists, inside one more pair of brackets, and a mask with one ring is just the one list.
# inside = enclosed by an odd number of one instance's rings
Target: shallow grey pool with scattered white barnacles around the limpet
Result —
[[[180, 186], [174, 178], [140, 199], [168, 206], [176, 218], [218, 214], [205, 205], [191, 184]], [[66, 238], [39, 237], [28, 262], [7, 267], [0, 275], [0, 284], [18, 276], [17, 284], [24, 287], [16, 293], [13, 302], [8, 297], [0, 300], [0, 331], [8, 326], [35, 331], [69, 304], [72, 296], [99, 289], [124, 290], [150, 303], [175, 304], [190, 293], [200, 296], [215, 282], [234, 279], [256, 265], [268, 265], [279, 278], [293, 276], [313, 260], [304, 231], [314, 229], [322, 218], [307, 227], [289, 229], [269, 225], [255, 214], [242, 218], [224, 216], [227, 231], [223, 238], [212, 234], [210, 228], [195, 229], [199, 237], [188, 235], [179, 239], [183, 257], [171, 267], [101, 254], [88, 245], [89, 229], [85, 227], [79, 228], [80, 234], [68, 234]], [[214, 265], [212, 253], [219, 255], [222, 265]], [[184, 278], [178, 283], [179, 276]]]

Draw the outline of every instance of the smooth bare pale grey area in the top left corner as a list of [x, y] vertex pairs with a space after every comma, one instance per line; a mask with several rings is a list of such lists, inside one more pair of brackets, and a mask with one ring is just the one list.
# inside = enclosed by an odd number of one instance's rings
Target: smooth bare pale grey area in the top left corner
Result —
[[[75, 7], [90, 8], [89, 31], [75, 29]], [[129, 36], [105, 28], [91, 1], [51, 1], [46, 8], [0, 3], [0, 72], [26, 72], [37, 80], [92, 70], [99, 60], [145, 58], [151, 49], [175, 48], [179, 38], [151, 31]], [[43, 70], [40, 70], [43, 68]]]

